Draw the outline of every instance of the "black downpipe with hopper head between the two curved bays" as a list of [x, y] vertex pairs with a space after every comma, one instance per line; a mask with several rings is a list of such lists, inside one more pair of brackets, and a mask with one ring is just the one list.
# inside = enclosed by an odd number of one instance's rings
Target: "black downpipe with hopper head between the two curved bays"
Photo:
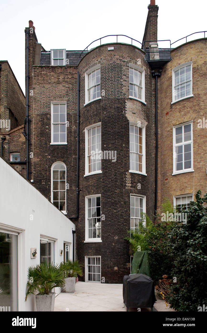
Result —
[[155, 77], [155, 127], [156, 127], [156, 154], [155, 154], [155, 216], [157, 211], [157, 161], [158, 161], [158, 125], [157, 125], [157, 77], [161, 76], [161, 71], [152, 71]]

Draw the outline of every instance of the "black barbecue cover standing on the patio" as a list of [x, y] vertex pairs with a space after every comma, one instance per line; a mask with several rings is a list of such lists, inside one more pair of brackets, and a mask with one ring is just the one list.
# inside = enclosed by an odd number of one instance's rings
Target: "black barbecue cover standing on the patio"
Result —
[[151, 277], [144, 274], [124, 275], [123, 299], [127, 308], [152, 308], [156, 298]]

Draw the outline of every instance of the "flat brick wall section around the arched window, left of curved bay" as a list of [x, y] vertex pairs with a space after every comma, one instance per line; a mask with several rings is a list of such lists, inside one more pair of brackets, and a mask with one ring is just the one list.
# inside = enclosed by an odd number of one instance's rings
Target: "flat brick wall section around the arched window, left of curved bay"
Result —
[[[66, 101], [67, 145], [51, 145], [51, 102]], [[65, 163], [67, 216], [76, 215], [77, 68], [33, 66], [33, 179], [51, 201], [51, 166]]]

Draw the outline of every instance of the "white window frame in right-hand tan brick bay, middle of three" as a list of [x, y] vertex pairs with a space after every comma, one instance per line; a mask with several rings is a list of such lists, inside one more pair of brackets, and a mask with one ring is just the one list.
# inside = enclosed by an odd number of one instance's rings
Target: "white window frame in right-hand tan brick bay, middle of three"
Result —
[[[181, 127], [181, 126], [184, 127], [185, 125], [188, 125], [188, 124], [191, 124], [191, 140], [186, 141], [186, 142], [182, 142], [182, 144], [181, 143], [176, 144], [175, 143], [175, 129], [177, 127]], [[191, 120], [189, 122], [185, 122], [185, 123], [182, 123], [182, 124], [179, 124], [179, 125], [175, 125], [175, 126], [173, 126], [172, 129], [173, 129], [173, 173], [172, 173], [172, 175], [180, 174], [180, 173], [186, 173], [186, 172], [193, 172], [194, 171], [194, 169], [193, 169], [193, 121]], [[182, 133], [184, 134], [184, 131]], [[186, 144], [191, 144], [191, 168], [176, 171], [176, 163], [175, 163], [176, 151], [175, 151], [175, 148], [177, 146], [181, 146], [181, 145], [184, 146]], [[184, 152], [183, 152], [183, 154], [184, 154]], [[184, 161], [182, 161], [182, 163], [183, 163], [183, 166], [184, 166]]]

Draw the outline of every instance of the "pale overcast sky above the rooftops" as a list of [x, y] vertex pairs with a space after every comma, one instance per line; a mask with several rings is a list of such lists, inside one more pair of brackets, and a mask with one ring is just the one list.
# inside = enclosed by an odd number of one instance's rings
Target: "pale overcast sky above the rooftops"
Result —
[[[8, 60], [25, 93], [24, 30], [29, 20], [34, 22], [38, 42], [47, 51], [82, 50], [93, 40], [112, 34], [142, 42], [149, 3], [150, 0], [2, 0], [0, 60]], [[158, 39], [174, 42], [207, 30], [206, 0], [156, 0], [156, 4]]]

